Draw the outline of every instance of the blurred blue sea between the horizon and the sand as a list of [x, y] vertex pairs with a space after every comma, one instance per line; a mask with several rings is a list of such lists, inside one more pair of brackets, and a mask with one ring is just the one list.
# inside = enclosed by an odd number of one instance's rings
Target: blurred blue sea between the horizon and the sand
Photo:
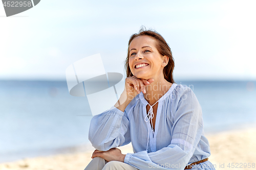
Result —
[[[205, 134], [256, 125], [256, 81], [176, 81], [202, 107]], [[100, 107], [100, 106], [99, 106]], [[0, 80], [0, 163], [84, 151], [91, 109], [66, 81]]]

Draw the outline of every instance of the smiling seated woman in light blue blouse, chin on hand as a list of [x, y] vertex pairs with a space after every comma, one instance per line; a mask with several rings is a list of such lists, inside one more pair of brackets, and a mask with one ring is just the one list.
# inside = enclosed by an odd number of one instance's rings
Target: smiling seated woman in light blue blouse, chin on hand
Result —
[[[164, 38], [143, 29], [132, 35], [125, 66], [119, 101], [91, 120], [89, 140], [96, 150], [86, 169], [215, 169], [201, 106], [189, 87], [174, 82]], [[130, 142], [134, 153], [116, 148]]]

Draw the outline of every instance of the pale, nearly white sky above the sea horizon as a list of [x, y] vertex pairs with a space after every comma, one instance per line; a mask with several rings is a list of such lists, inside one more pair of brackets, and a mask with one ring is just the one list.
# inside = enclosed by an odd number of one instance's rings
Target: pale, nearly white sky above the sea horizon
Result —
[[175, 80], [254, 81], [255, 7], [254, 0], [41, 0], [6, 17], [0, 5], [0, 80], [66, 80], [69, 65], [98, 53], [106, 72], [124, 75], [129, 38], [145, 26], [169, 44]]

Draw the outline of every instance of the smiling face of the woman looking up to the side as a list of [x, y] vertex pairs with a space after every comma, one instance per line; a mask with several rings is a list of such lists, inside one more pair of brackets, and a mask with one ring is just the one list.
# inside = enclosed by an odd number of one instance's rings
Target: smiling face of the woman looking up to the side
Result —
[[136, 78], [156, 80], [163, 76], [163, 68], [168, 63], [168, 57], [158, 52], [154, 38], [147, 35], [134, 38], [129, 51], [129, 66]]

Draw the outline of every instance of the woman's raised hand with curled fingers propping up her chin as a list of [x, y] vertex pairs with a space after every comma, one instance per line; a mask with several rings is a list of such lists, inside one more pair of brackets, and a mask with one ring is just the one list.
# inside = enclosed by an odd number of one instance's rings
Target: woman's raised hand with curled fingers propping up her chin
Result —
[[145, 80], [145, 79], [138, 79], [135, 76], [127, 77], [125, 79], [125, 86], [124, 86], [124, 90], [126, 91], [127, 98], [132, 100], [141, 91], [142, 93], [146, 93], [145, 87], [151, 84], [152, 82], [154, 82], [154, 79]]

